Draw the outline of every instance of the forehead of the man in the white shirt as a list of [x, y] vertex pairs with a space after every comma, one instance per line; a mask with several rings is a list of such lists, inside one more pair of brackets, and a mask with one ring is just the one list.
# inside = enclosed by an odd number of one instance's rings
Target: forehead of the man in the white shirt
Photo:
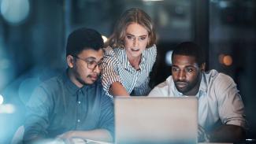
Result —
[[195, 61], [195, 57], [179, 55], [176, 54], [173, 56], [173, 65], [175, 66], [198, 66]]

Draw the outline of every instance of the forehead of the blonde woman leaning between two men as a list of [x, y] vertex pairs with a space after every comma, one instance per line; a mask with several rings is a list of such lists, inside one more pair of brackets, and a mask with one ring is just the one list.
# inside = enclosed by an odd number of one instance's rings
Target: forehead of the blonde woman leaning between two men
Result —
[[148, 31], [146, 28], [144, 28], [142, 25], [137, 24], [137, 23], [132, 23], [129, 24], [126, 28], [126, 34], [131, 34], [135, 36], [140, 36], [140, 35], [147, 35]]

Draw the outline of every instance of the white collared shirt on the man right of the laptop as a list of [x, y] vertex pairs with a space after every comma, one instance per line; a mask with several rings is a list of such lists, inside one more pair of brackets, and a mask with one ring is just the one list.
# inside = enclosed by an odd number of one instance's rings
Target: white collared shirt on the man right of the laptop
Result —
[[[150, 91], [150, 96], [182, 97], [175, 87], [173, 77], [169, 76]], [[244, 115], [244, 105], [236, 83], [230, 76], [216, 70], [202, 73], [198, 93], [198, 124], [210, 131], [222, 124], [233, 124], [247, 127]]]

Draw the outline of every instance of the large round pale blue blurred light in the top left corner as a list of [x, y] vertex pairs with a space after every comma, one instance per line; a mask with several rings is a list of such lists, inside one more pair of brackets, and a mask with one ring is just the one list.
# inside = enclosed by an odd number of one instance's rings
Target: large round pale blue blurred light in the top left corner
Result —
[[30, 5], [28, 0], [2, 0], [1, 14], [10, 24], [20, 24], [28, 17]]

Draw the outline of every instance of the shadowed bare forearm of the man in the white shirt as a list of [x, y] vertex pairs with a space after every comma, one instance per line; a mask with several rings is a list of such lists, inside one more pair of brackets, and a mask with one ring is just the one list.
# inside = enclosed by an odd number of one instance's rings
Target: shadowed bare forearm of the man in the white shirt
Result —
[[243, 127], [225, 124], [210, 132], [210, 142], [239, 142], [246, 136]]

